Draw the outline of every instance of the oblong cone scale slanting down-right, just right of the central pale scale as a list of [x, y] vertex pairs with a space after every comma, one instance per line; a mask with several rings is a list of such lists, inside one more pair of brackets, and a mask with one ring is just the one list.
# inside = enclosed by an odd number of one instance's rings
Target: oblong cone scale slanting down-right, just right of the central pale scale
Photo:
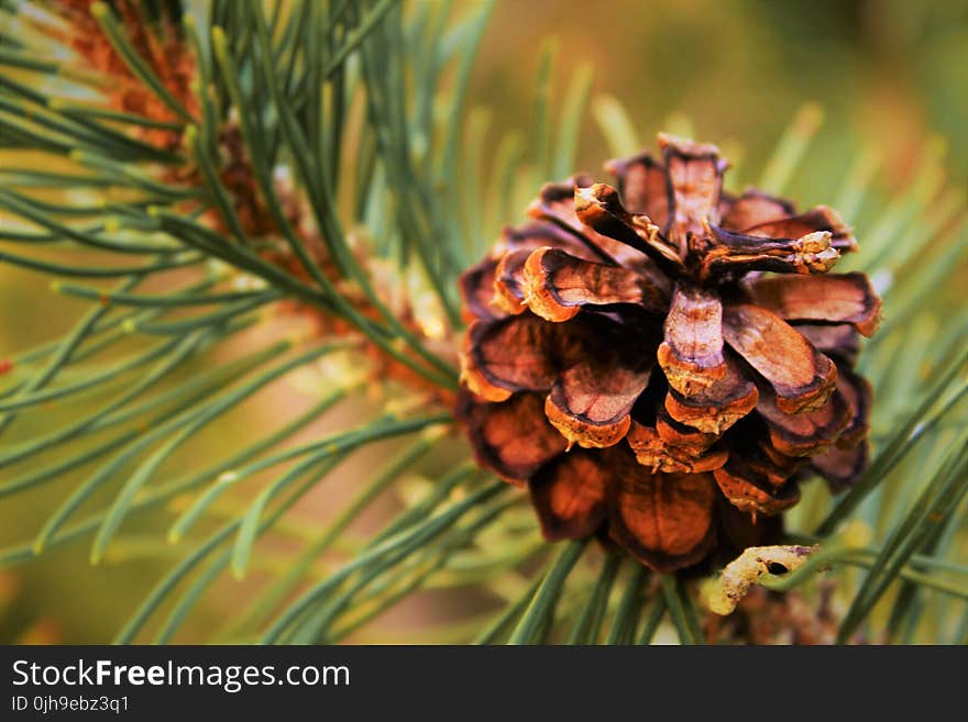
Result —
[[726, 306], [723, 335], [777, 392], [785, 413], [815, 409], [837, 379], [834, 363], [776, 313], [750, 303]]

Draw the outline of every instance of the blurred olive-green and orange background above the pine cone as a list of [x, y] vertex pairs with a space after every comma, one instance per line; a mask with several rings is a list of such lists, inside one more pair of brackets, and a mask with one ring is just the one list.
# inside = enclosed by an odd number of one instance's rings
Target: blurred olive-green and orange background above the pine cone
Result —
[[[759, 168], [794, 111], [816, 101], [832, 182], [860, 143], [884, 152], [884, 176], [903, 182], [931, 133], [949, 142], [954, 175], [968, 174], [964, 0], [505, 0], [475, 77], [495, 125], [527, 127], [546, 36], [558, 40], [557, 88], [591, 63], [593, 95], [615, 96], [650, 144], [685, 115], [697, 136], [741, 147]], [[585, 127], [579, 157], [598, 170], [607, 149]]]

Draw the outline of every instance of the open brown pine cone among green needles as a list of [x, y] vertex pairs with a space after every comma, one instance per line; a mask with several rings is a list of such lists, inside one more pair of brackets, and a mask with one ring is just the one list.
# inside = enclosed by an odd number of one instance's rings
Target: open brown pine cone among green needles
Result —
[[617, 190], [542, 188], [462, 276], [458, 415], [548, 540], [601, 534], [670, 571], [767, 541], [758, 516], [811, 469], [857, 478], [871, 391], [853, 366], [880, 299], [824, 275], [857, 248], [833, 210], [729, 196], [714, 145], [659, 143], [661, 163], [608, 164]]

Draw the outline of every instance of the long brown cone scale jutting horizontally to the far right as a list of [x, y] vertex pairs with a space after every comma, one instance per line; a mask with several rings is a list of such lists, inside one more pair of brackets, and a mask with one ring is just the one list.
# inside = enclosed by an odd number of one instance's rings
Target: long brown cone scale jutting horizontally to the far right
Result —
[[881, 300], [864, 274], [759, 278], [747, 290], [752, 303], [789, 321], [849, 323], [870, 336], [880, 320]]

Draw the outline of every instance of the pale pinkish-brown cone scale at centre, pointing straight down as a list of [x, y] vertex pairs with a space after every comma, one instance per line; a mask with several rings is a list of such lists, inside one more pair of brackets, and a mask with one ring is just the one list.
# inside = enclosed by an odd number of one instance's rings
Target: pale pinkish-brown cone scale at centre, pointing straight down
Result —
[[675, 285], [658, 358], [669, 386], [686, 398], [726, 376], [723, 304], [715, 291]]

